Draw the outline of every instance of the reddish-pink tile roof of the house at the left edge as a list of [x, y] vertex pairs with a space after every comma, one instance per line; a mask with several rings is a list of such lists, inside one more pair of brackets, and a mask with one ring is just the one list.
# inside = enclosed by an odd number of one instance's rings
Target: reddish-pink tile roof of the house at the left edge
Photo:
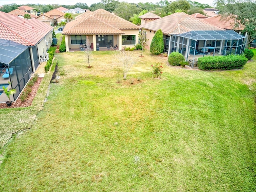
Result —
[[35, 18], [23, 19], [0, 12], [0, 38], [25, 46], [36, 45], [53, 27]]

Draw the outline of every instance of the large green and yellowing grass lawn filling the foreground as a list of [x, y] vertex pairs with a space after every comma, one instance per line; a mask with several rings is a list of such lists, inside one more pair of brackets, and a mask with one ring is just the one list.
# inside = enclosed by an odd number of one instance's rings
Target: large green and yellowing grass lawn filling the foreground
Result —
[[56, 54], [66, 75], [43, 109], [46, 82], [30, 108], [0, 110], [10, 127], [40, 111], [0, 150], [0, 191], [256, 191], [256, 57], [200, 71], [138, 55], [117, 83], [113, 52], [93, 52], [92, 68], [84, 52]]

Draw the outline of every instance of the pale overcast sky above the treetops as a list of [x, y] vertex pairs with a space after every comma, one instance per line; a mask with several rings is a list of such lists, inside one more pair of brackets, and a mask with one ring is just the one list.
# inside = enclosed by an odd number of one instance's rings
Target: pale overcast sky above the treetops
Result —
[[[138, 2], [142, 2], [142, 3], [146, 3], [146, 2], [152, 2], [152, 3], [156, 3], [159, 2], [160, 0], [119, 0], [120, 2], [124, 1], [124, 2], [128, 2], [128, 3], [138, 3]], [[169, 0], [170, 1], [170, 0]], [[171, 0], [172, 1], [172, 0]], [[209, 4], [209, 5], [213, 5], [214, 0], [192, 0], [192, 1], [196, 1], [202, 4]], [[0, 6], [6, 5], [6, 4], [18, 4], [18, 5], [22, 5], [22, 4], [62, 4], [62, 5], [74, 5], [76, 3], [86, 3], [88, 6], [90, 6], [93, 3], [98, 3], [101, 2], [101, 0], [0, 0]]]

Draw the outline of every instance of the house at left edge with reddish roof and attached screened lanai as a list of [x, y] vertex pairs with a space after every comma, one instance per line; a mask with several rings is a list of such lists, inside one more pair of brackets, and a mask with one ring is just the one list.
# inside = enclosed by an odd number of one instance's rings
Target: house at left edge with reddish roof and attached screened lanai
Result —
[[[35, 18], [25, 20], [0, 12], [0, 84], [11, 82], [16, 100], [40, 62], [47, 58], [53, 27]], [[3, 73], [11, 72], [3, 76]], [[9, 85], [8, 85], [9, 86]], [[0, 95], [0, 102], [7, 98]]]

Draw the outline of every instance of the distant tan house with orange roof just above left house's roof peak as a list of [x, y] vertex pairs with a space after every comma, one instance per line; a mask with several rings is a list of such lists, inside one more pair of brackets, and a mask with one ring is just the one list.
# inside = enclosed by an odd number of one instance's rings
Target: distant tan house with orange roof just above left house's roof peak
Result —
[[62, 21], [66, 21], [66, 19], [64, 18], [64, 15], [65, 15], [64, 12], [59, 11], [57, 9], [53, 9], [47, 13], [44, 13], [38, 16], [36, 19], [42, 22], [50, 22], [51, 25], [58, 25], [58, 23]]

